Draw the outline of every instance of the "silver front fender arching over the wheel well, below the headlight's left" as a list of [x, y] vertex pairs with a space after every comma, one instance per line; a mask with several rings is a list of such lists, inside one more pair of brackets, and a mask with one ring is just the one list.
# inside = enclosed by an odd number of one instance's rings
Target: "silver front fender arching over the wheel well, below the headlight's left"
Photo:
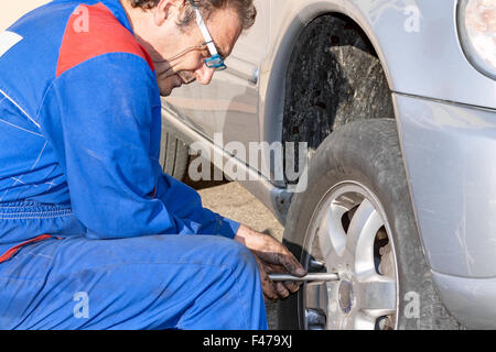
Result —
[[[496, 108], [496, 82], [476, 70], [460, 46], [454, 0], [272, 1], [278, 13], [271, 15], [273, 40], [260, 74], [265, 141], [282, 136], [287, 67], [299, 34], [330, 12], [349, 16], [364, 30], [392, 91]], [[420, 15], [418, 31], [409, 26], [412, 9]]]

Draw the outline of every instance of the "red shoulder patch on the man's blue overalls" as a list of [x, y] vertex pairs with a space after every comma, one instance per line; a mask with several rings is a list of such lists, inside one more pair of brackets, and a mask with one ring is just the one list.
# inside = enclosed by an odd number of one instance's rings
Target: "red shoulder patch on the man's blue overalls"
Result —
[[58, 54], [56, 77], [93, 57], [108, 53], [130, 53], [153, 63], [142, 47], [112, 12], [103, 3], [79, 6], [65, 29]]

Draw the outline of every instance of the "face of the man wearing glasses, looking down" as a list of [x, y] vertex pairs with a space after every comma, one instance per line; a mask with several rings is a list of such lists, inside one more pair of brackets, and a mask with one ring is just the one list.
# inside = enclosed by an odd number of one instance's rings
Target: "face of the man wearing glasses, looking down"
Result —
[[[174, 3], [182, 2], [172, 1]], [[160, 9], [159, 6], [157, 11]], [[155, 66], [162, 96], [169, 96], [174, 88], [195, 80], [208, 85], [215, 72], [215, 68], [205, 65], [205, 59], [212, 55], [206, 45], [202, 45], [205, 40], [196, 21], [185, 29], [176, 25], [180, 9], [180, 6], [168, 8], [166, 23], [144, 41]], [[205, 24], [218, 54], [225, 59], [242, 31], [237, 13], [230, 9], [217, 10], [205, 20]]]

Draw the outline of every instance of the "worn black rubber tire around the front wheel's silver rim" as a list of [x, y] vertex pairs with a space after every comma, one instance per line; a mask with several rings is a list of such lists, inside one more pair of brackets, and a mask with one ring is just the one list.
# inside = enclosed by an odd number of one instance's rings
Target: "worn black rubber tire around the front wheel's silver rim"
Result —
[[[430, 271], [416, 226], [393, 120], [353, 122], [322, 143], [309, 164], [306, 191], [293, 196], [284, 243], [303, 260], [302, 248], [314, 210], [330, 189], [345, 182], [363, 185], [380, 202], [396, 254], [397, 328], [421, 328], [422, 289], [430, 285], [425, 284]], [[301, 290], [281, 304], [283, 328], [299, 328], [290, 323], [296, 319], [289, 317], [290, 311], [298, 310], [299, 299], [302, 299]], [[416, 304], [420, 306], [412, 306]], [[302, 317], [298, 320], [301, 326]]]

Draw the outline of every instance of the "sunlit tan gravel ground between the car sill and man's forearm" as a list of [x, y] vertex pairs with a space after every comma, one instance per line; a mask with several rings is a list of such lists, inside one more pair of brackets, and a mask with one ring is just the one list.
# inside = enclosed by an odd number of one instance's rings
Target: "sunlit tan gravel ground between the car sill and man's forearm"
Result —
[[[258, 232], [269, 233], [282, 240], [284, 228], [273, 215], [238, 183], [188, 183], [202, 196], [204, 207], [223, 217], [241, 222]], [[269, 329], [277, 329], [278, 304], [266, 301]]]

